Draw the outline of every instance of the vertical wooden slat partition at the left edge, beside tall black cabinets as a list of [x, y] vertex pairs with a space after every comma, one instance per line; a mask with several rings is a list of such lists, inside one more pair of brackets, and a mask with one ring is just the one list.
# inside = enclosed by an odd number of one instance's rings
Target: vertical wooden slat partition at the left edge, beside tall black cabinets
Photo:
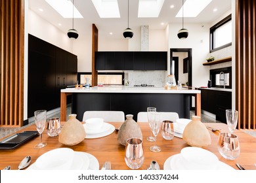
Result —
[[24, 0], [1, 0], [0, 126], [23, 125]]

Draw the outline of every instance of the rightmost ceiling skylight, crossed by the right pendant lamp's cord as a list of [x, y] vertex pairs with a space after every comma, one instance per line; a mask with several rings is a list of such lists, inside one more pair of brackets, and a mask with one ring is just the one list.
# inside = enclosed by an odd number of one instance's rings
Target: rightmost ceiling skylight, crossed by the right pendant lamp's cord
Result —
[[[184, 3], [184, 17], [196, 17], [212, 0], [186, 0]], [[182, 17], [182, 7], [176, 17]]]

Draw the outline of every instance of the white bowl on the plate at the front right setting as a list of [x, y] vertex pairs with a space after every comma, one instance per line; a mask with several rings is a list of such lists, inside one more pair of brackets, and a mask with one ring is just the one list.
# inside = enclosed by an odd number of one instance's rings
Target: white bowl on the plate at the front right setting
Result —
[[219, 159], [215, 154], [197, 147], [186, 147], [181, 150], [181, 161], [186, 169], [217, 169]]

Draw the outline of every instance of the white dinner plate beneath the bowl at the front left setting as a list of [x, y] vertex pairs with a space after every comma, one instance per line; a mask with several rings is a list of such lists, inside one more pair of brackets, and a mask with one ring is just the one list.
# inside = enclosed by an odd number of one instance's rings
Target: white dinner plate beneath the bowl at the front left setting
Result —
[[[98, 163], [98, 159], [95, 156], [87, 153], [87, 152], [74, 152], [75, 153], [75, 160], [73, 161], [74, 164], [71, 166], [71, 170], [98, 170], [100, 168], [100, 164]], [[82, 163], [77, 163], [78, 159], [82, 161]], [[80, 168], [79, 168], [80, 167]], [[27, 170], [38, 170], [35, 166], [35, 163], [30, 165]]]

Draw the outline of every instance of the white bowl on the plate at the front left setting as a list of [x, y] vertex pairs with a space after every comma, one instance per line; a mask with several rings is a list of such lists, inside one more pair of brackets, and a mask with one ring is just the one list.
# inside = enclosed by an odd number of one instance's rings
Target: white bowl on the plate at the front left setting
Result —
[[73, 159], [74, 150], [71, 148], [56, 148], [39, 156], [35, 161], [35, 166], [41, 170], [68, 170]]

